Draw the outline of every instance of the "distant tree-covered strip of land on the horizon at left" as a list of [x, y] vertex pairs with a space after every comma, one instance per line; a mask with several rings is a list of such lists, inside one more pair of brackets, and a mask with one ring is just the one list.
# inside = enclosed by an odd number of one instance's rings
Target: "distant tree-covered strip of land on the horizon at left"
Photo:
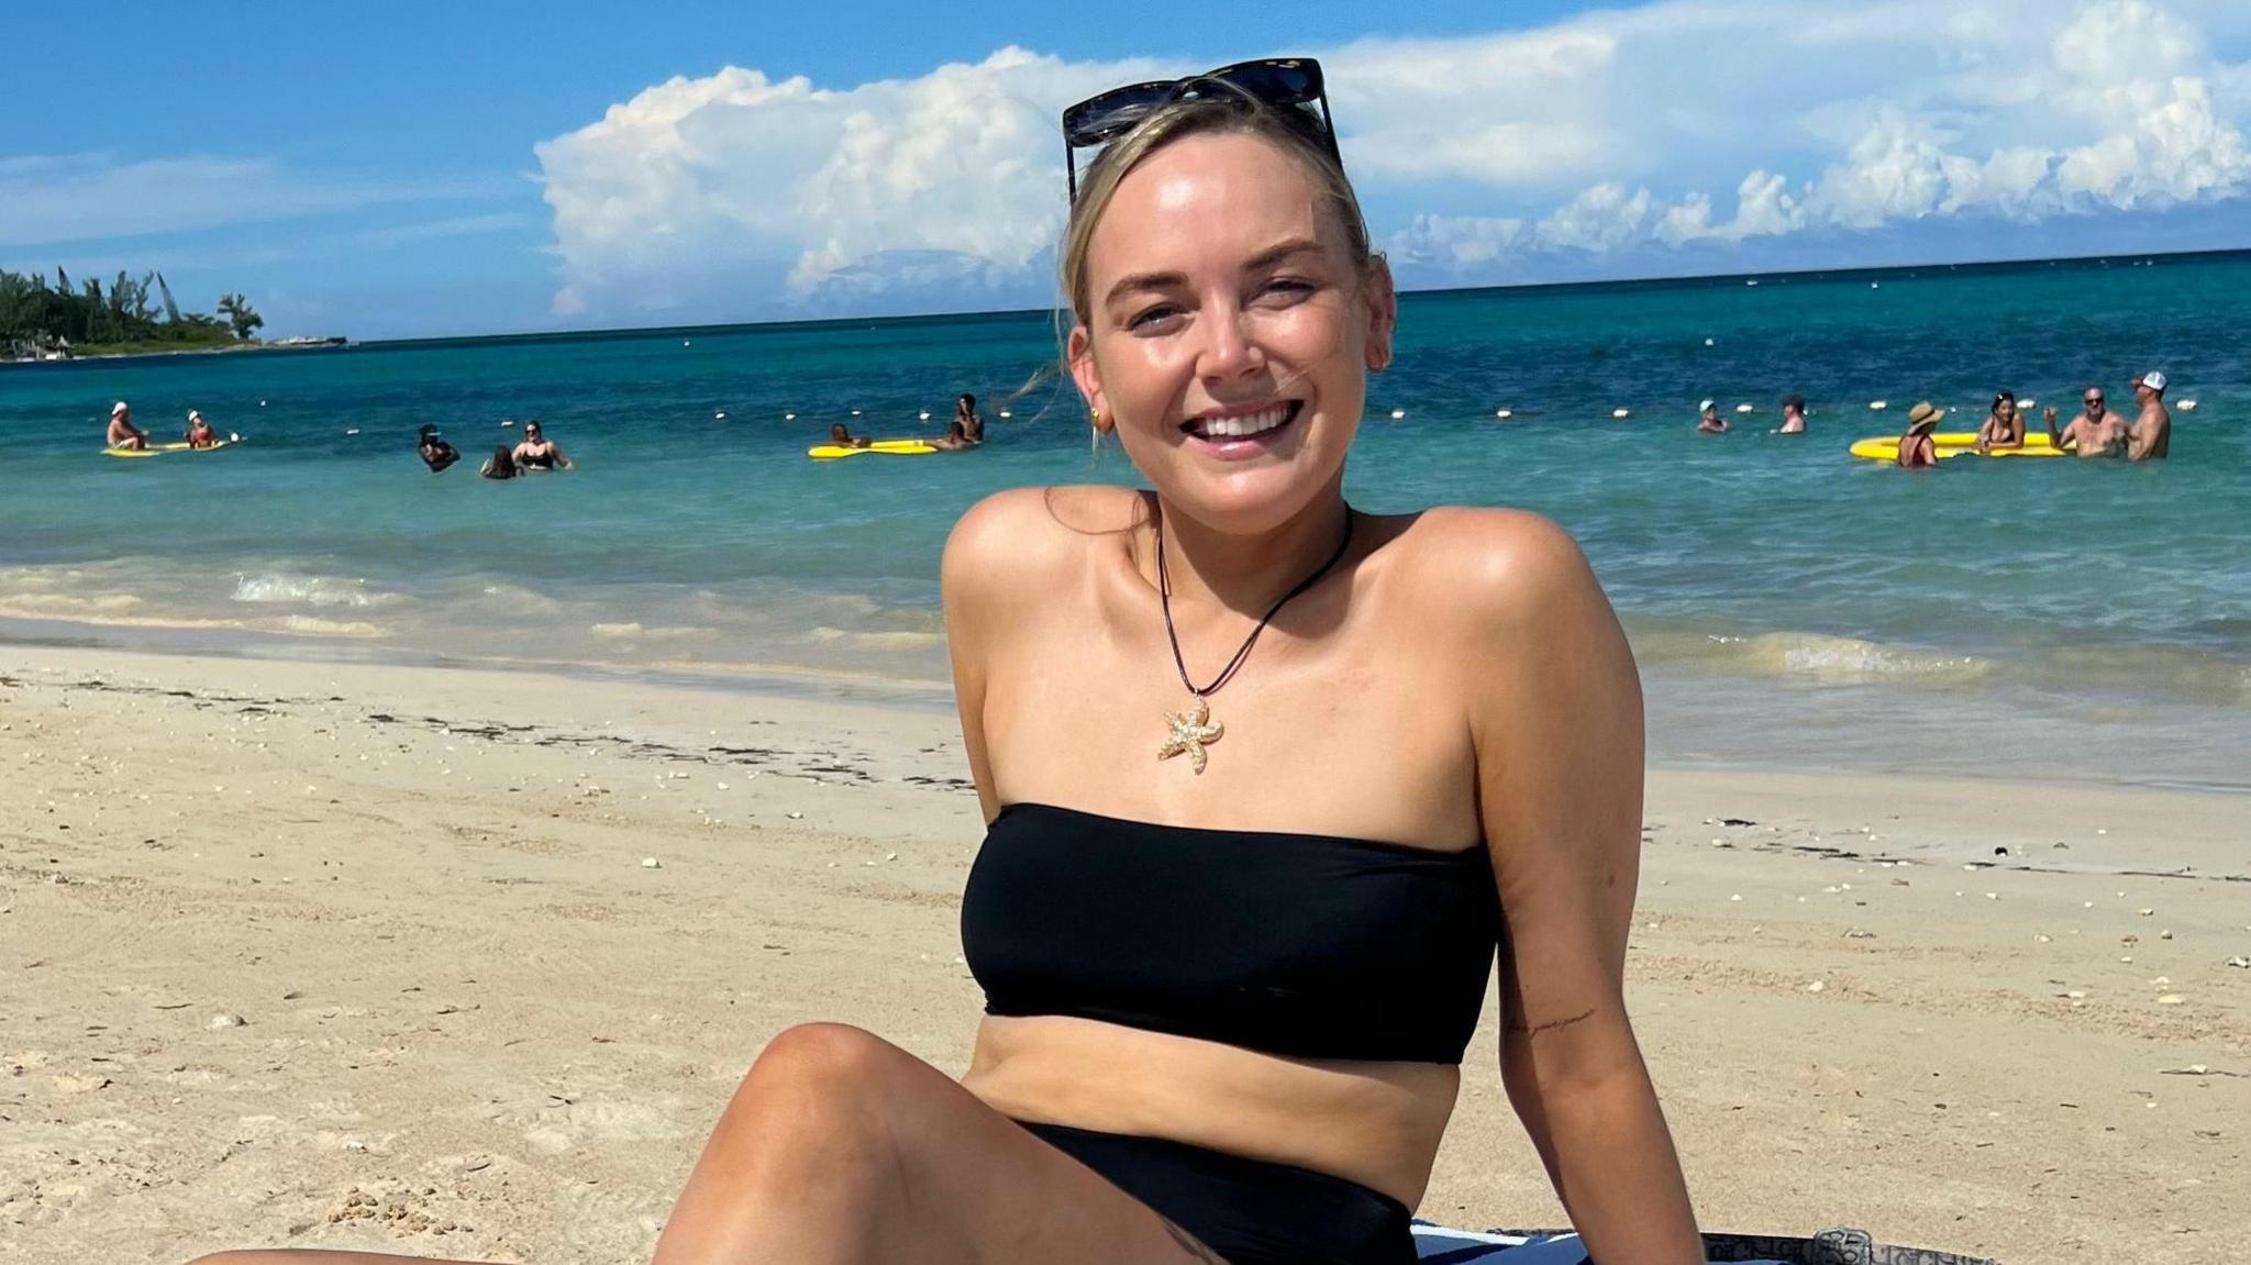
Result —
[[70, 272], [0, 270], [0, 360], [77, 360], [81, 356], [162, 356], [171, 351], [241, 351], [254, 347], [338, 347], [342, 338], [259, 342], [266, 317], [243, 295], [221, 295], [218, 315], [182, 313], [162, 272], [137, 281], [119, 272], [108, 288]]

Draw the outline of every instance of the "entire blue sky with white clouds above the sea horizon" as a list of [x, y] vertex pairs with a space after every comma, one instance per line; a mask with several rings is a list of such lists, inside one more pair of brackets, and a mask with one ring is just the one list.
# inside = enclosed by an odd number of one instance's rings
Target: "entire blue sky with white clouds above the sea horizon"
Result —
[[268, 333], [1044, 304], [1056, 108], [1272, 52], [1328, 65], [1409, 286], [2251, 245], [2240, 0], [88, 2], [9, 45], [0, 266]]

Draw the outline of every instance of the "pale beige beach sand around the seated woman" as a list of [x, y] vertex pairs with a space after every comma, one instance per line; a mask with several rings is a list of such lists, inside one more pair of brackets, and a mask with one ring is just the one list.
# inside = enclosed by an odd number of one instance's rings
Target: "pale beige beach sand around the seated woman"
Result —
[[[961, 774], [914, 691], [0, 646], [0, 1258], [646, 1258], [779, 1029], [966, 1062]], [[1709, 1229], [2251, 1242], [2251, 799], [1659, 770], [1645, 822]], [[1560, 1224], [1490, 1051], [1423, 1213]]]

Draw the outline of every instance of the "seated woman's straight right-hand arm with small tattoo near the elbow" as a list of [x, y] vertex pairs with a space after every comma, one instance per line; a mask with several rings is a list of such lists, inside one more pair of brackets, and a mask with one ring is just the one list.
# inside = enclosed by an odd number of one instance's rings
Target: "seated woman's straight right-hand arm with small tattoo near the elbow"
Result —
[[1479, 815], [1501, 894], [1501, 1080], [1596, 1263], [1704, 1245], [1625, 1015], [1641, 860], [1641, 680], [1560, 527], [1479, 515], [1461, 558], [1483, 628], [1470, 682]]

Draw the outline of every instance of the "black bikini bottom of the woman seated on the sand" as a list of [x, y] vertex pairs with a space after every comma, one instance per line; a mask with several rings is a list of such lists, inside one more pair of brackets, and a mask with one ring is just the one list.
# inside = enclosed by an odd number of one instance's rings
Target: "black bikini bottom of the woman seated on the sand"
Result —
[[1357, 1182], [1155, 1137], [1024, 1128], [1227, 1265], [1414, 1265], [1407, 1204]]

